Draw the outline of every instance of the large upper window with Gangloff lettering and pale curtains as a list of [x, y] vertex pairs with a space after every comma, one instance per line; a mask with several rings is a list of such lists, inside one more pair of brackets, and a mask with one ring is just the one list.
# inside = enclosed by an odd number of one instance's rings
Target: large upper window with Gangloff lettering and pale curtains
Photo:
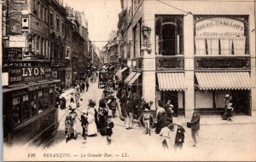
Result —
[[195, 16], [195, 55], [248, 55], [247, 16]]

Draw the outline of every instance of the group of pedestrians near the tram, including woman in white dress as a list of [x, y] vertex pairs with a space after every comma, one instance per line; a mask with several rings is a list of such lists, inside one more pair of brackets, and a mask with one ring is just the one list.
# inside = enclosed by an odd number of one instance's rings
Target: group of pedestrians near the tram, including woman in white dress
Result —
[[[82, 136], [86, 142], [87, 136], [97, 136], [98, 131], [102, 136], [107, 136], [108, 144], [111, 143], [111, 136], [113, 134], [113, 122], [111, 116], [108, 116], [108, 108], [105, 100], [99, 101], [98, 111], [96, 110], [96, 102], [89, 100], [87, 108], [79, 110], [79, 107], [75, 103], [71, 103], [69, 106], [69, 113], [65, 120], [65, 133], [66, 142], [70, 139], [77, 138], [77, 123], [78, 120], [82, 126]], [[81, 114], [79, 118], [77, 111]]]

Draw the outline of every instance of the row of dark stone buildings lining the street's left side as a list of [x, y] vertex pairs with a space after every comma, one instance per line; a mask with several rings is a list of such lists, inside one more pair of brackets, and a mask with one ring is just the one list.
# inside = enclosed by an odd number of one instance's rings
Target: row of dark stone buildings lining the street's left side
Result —
[[18, 62], [33, 62], [32, 68], [48, 68], [47, 78], [60, 79], [62, 89], [71, 87], [74, 78], [99, 67], [99, 61], [93, 65], [92, 59], [99, 58], [88, 35], [84, 12], [64, 7], [61, 0], [5, 0], [3, 72], [9, 73], [8, 84], [37, 80], [10, 72], [24, 67], [14, 67]]

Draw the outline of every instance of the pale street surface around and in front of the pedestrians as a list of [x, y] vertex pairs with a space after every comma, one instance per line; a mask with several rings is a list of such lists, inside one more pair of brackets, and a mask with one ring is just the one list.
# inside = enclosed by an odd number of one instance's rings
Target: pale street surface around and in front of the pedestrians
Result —
[[[88, 100], [98, 101], [102, 97], [102, 90], [98, 89], [96, 83], [90, 84], [88, 92], [82, 94], [83, 101], [79, 110], [88, 107]], [[69, 103], [69, 101], [68, 101]], [[49, 153], [71, 153], [73, 160], [90, 160], [92, 157], [98, 157], [98, 160], [131, 160], [147, 157], [145, 160], [246, 160], [255, 158], [254, 151], [256, 143], [255, 124], [218, 124], [218, 125], [201, 125], [198, 145], [192, 147], [191, 133], [183, 124], [185, 132], [185, 142], [183, 150], [174, 150], [171, 148], [164, 151], [161, 148], [161, 137], [154, 132], [152, 136], [145, 134], [145, 131], [137, 123], [134, 128], [125, 130], [125, 122], [119, 118], [113, 119], [113, 142], [108, 145], [106, 136], [88, 137], [86, 141], [81, 136], [82, 127], [78, 124], [78, 138], [66, 143], [64, 121], [67, 114], [66, 110], [59, 110], [60, 126], [59, 130], [51, 142], [46, 152]], [[79, 117], [81, 113], [78, 111]], [[237, 117], [239, 118], [239, 117]], [[179, 120], [179, 119], [174, 119]], [[189, 120], [189, 119], [188, 119]], [[173, 142], [176, 131], [172, 131]], [[138, 153], [139, 152], [139, 153]], [[104, 155], [109, 156], [107, 159]], [[233, 154], [230, 156], [230, 154]], [[99, 155], [99, 154], [102, 154]], [[237, 155], [237, 156], [236, 156]], [[123, 157], [122, 157], [123, 156]], [[50, 158], [49, 158], [50, 159]]]

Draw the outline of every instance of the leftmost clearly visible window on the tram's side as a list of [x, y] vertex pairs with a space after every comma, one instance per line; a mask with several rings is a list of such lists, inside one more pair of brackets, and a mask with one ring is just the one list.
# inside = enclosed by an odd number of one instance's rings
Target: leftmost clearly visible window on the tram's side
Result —
[[20, 124], [22, 122], [20, 97], [16, 97], [13, 99], [13, 117], [15, 125]]

